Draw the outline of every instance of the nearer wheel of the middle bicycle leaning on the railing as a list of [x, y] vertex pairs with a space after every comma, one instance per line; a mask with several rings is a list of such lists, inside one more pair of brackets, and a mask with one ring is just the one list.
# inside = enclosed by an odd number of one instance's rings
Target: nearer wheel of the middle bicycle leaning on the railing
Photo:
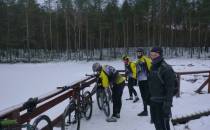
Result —
[[62, 114], [61, 130], [79, 130], [79, 117], [79, 112], [76, 110], [76, 104], [69, 104]]

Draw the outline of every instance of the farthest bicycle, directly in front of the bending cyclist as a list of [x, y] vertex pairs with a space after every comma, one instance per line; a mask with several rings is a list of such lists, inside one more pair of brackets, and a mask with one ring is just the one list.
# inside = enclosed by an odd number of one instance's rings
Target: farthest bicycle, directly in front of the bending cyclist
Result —
[[109, 102], [112, 100], [110, 88], [106, 89], [107, 91], [105, 91], [104, 87], [102, 87], [101, 85], [101, 80], [98, 74], [93, 74], [93, 75], [86, 74], [86, 76], [96, 77], [96, 84], [91, 93], [96, 93], [96, 101], [97, 101], [99, 110], [103, 110], [105, 116], [109, 117], [110, 115]]

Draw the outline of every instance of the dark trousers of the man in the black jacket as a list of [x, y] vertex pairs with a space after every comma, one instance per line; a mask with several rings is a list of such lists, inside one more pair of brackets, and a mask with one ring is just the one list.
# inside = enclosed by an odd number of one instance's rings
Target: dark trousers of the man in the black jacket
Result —
[[170, 130], [169, 117], [164, 116], [163, 103], [150, 102], [151, 116], [156, 130]]

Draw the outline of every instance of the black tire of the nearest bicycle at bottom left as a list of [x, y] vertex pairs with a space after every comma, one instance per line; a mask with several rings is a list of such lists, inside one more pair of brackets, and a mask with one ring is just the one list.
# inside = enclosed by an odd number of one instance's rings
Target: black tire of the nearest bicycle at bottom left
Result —
[[41, 116], [39, 116], [38, 118], [35, 119], [35, 121], [32, 125], [35, 130], [37, 129], [37, 126], [41, 121], [46, 121], [47, 122], [47, 125], [46, 125], [47, 130], [53, 130], [52, 122], [47, 115], [41, 115]]

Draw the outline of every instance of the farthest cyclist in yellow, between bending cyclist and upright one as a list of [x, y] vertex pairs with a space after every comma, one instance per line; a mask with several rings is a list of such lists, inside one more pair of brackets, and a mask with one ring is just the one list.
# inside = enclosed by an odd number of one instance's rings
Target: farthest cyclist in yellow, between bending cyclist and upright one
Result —
[[130, 61], [130, 58], [127, 55], [123, 56], [123, 62], [125, 65], [125, 76], [128, 80], [128, 91], [130, 95], [130, 98], [127, 98], [126, 100], [133, 100], [134, 95], [135, 99], [133, 102], [135, 103], [139, 100], [137, 92], [134, 89], [134, 86], [136, 85], [136, 64]]

